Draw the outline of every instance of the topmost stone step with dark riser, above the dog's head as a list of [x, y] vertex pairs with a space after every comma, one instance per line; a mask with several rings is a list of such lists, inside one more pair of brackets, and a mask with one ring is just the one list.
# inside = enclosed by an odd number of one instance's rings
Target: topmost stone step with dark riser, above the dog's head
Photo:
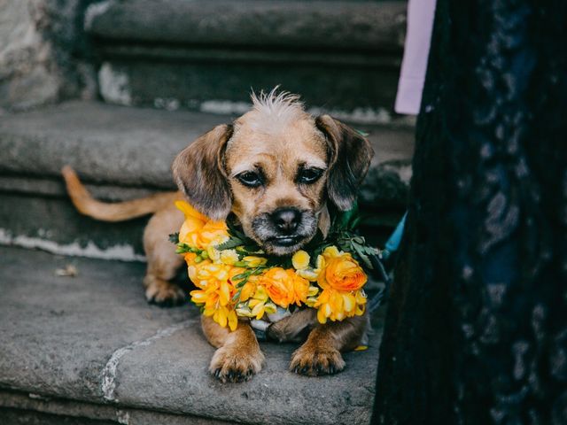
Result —
[[238, 110], [278, 84], [365, 120], [392, 111], [405, 1], [107, 0], [85, 27], [114, 104]]

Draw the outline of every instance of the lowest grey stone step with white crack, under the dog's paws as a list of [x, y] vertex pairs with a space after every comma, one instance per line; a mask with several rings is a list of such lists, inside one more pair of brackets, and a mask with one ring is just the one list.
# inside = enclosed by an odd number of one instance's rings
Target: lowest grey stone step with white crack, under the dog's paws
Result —
[[[78, 277], [55, 275], [70, 262]], [[206, 372], [214, 349], [200, 333], [198, 310], [147, 305], [143, 272], [136, 263], [0, 248], [4, 394], [245, 423], [369, 423], [379, 317], [369, 350], [347, 353], [339, 375], [293, 375], [286, 367], [295, 347], [262, 344], [267, 365], [260, 374], [249, 383], [223, 385]], [[0, 403], [18, 407], [10, 397]]]

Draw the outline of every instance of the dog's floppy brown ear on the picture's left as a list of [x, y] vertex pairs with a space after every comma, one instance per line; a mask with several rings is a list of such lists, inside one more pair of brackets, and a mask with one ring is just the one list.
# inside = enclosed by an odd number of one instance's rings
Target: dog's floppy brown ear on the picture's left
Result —
[[232, 135], [231, 125], [221, 125], [201, 135], [174, 160], [174, 179], [199, 213], [224, 220], [232, 197], [224, 168], [224, 151]]

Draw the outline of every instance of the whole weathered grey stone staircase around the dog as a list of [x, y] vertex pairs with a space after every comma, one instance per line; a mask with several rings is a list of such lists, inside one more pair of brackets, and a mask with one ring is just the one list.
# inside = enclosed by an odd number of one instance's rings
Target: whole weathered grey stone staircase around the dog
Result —
[[[369, 133], [377, 156], [361, 186], [363, 230], [379, 245], [404, 211], [414, 150], [411, 121], [390, 112], [403, 9], [319, 0], [90, 6], [101, 101], [0, 115], [0, 423], [369, 423], [383, 312], [369, 350], [347, 353], [339, 375], [293, 375], [295, 347], [263, 344], [260, 375], [217, 383], [198, 310], [144, 300], [147, 218], [82, 216], [60, 168], [74, 166], [108, 201], [175, 189], [175, 155], [244, 112], [251, 87], [281, 83], [312, 112]], [[59, 275], [69, 265], [78, 275]]]

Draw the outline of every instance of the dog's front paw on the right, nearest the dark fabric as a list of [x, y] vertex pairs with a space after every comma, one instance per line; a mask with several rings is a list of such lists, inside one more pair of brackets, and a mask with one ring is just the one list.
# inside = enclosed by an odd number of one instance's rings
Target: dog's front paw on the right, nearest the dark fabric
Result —
[[345, 368], [345, 360], [334, 348], [302, 345], [291, 355], [290, 370], [299, 375], [333, 375]]

